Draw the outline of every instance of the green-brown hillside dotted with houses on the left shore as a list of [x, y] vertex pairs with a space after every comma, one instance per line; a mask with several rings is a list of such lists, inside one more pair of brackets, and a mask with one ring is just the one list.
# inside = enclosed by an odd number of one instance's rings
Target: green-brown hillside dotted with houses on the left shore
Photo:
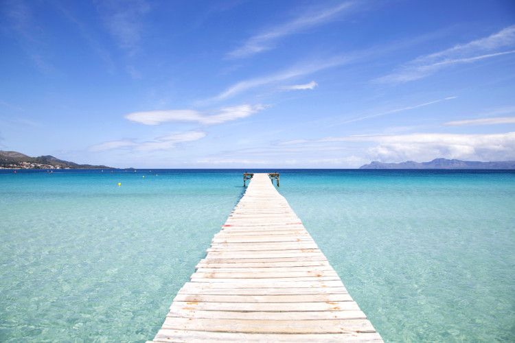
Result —
[[30, 157], [21, 152], [0, 150], [0, 168], [12, 169], [111, 169], [105, 165], [79, 165], [51, 155]]

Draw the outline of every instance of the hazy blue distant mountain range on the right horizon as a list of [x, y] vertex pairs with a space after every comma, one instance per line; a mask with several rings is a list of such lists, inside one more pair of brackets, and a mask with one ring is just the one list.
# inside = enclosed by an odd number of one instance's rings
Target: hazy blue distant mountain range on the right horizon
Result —
[[429, 162], [406, 161], [401, 163], [371, 162], [359, 169], [515, 169], [515, 161], [479, 162], [435, 158]]

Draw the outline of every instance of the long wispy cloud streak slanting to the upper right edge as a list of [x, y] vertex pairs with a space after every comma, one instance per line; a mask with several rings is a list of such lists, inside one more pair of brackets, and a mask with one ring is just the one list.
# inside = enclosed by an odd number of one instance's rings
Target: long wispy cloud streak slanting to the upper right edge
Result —
[[[512, 25], [488, 37], [415, 58], [415, 60], [407, 62], [393, 73], [374, 81], [402, 83], [419, 80], [455, 64], [473, 63], [487, 58], [515, 54], [514, 47], [515, 25]], [[499, 51], [499, 49], [507, 50]]]

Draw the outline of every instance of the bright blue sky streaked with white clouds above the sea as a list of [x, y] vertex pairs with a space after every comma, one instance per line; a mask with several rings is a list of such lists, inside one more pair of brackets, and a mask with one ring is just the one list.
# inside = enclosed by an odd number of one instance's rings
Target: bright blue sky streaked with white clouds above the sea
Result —
[[0, 150], [137, 168], [515, 160], [515, 1], [0, 0]]

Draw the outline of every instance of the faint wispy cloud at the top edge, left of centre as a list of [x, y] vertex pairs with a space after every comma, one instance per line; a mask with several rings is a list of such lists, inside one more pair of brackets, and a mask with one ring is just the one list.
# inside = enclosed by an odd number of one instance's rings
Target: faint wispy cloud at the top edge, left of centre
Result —
[[150, 5], [145, 0], [106, 0], [98, 2], [98, 10], [117, 45], [129, 54], [135, 54], [139, 50], [144, 16], [150, 12]]

